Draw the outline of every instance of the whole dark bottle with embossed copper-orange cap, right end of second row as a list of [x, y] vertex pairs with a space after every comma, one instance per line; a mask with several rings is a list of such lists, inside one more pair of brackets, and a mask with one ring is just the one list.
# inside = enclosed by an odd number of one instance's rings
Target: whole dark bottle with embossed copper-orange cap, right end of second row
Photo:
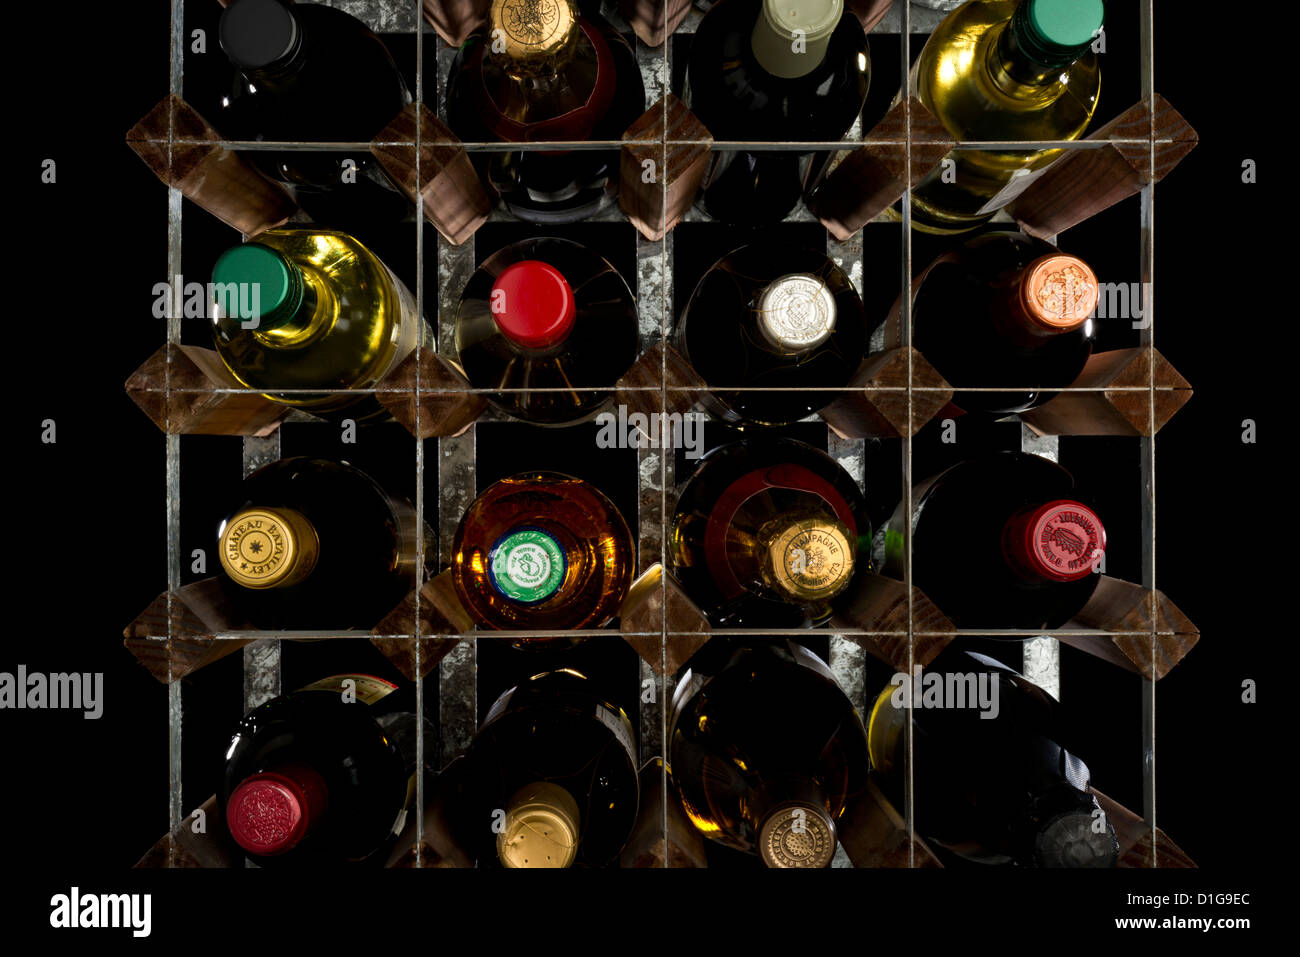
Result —
[[[1078, 256], [1018, 233], [988, 233], [940, 256], [916, 280], [911, 342], [958, 390], [954, 406], [1024, 412], [1083, 372], [1097, 293], [1096, 274]], [[961, 391], [1004, 385], [1020, 389]]]

